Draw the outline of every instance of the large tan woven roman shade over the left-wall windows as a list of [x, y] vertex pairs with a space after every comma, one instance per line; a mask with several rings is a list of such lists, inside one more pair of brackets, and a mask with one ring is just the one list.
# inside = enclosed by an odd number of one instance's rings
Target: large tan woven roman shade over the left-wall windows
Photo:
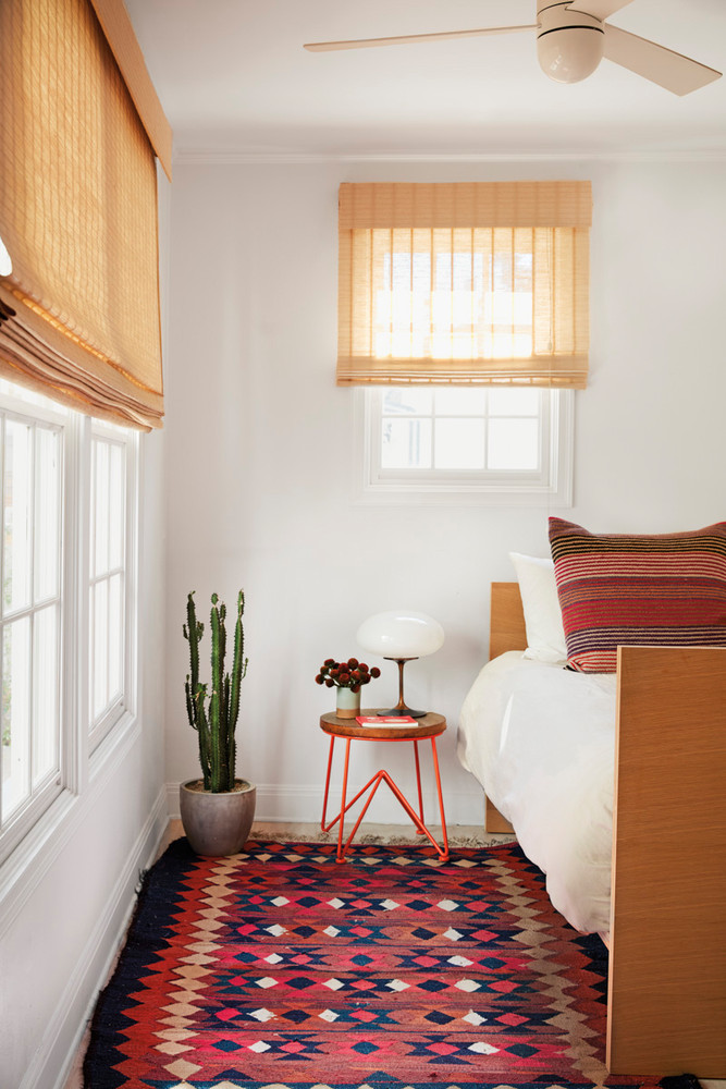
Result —
[[161, 426], [155, 148], [89, 0], [0, 3], [0, 374]]

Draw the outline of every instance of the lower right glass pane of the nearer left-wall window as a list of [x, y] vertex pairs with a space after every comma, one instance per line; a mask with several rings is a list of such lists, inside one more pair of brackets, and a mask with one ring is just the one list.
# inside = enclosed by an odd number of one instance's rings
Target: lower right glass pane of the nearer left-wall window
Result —
[[50, 605], [33, 626], [33, 785], [58, 768], [59, 609]]

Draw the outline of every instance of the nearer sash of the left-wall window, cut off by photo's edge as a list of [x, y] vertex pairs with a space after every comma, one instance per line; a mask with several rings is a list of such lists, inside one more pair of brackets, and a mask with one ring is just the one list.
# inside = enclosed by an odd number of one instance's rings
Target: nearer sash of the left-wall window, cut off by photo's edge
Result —
[[60, 783], [64, 417], [0, 408], [0, 829]]

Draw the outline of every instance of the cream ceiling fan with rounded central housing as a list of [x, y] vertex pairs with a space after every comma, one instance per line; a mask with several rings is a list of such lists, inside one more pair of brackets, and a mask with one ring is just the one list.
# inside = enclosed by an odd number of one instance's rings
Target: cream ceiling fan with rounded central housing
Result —
[[305, 48], [313, 52], [362, 49], [537, 30], [540, 68], [557, 83], [578, 83], [585, 79], [594, 72], [603, 57], [665, 87], [674, 95], [688, 95], [721, 76], [722, 73], [715, 69], [605, 22], [610, 15], [629, 3], [632, 0], [538, 0], [537, 23], [521, 26], [487, 26], [473, 30], [359, 38], [353, 41], [311, 41]]

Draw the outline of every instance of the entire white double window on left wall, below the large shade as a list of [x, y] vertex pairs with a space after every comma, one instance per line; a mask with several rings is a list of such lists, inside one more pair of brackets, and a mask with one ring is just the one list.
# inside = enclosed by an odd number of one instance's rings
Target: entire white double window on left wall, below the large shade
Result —
[[0, 381], [0, 859], [133, 711], [137, 442]]

